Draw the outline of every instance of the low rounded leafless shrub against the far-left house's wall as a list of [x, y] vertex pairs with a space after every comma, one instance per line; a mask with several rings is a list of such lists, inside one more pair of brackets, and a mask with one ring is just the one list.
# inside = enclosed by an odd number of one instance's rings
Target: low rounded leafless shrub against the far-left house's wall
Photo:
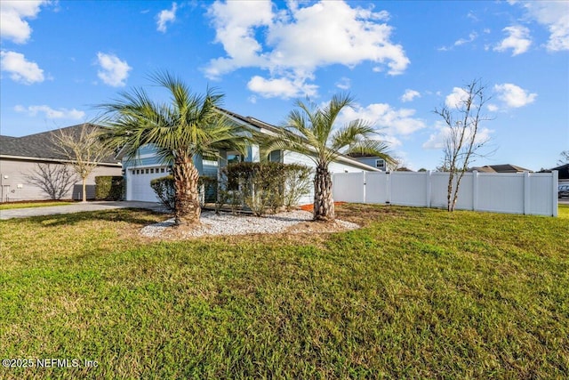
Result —
[[34, 171], [26, 178], [55, 200], [63, 198], [75, 182], [73, 169], [61, 164], [36, 164]]

